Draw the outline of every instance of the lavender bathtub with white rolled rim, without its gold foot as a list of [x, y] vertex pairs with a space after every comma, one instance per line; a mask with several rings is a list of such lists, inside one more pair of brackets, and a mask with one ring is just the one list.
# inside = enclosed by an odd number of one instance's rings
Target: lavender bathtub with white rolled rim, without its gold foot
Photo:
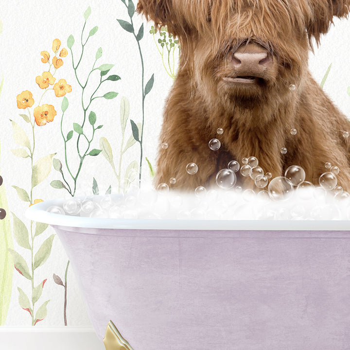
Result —
[[349, 221], [27, 216], [59, 236], [102, 339], [133, 350], [349, 350]]

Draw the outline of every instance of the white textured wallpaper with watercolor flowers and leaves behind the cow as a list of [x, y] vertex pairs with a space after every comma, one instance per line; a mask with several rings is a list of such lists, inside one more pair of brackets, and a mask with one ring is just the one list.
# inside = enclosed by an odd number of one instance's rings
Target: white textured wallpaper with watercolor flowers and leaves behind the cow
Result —
[[[88, 326], [53, 229], [24, 211], [151, 184], [181, 47], [136, 0], [22, 4], [0, 13], [0, 325]], [[310, 67], [350, 116], [350, 21], [334, 23]]]

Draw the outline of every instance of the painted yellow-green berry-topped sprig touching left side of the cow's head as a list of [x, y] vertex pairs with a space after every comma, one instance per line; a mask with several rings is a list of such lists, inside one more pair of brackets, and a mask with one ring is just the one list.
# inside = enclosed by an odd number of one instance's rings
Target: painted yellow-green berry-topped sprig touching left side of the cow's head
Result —
[[157, 30], [154, 26], [151, 26], [150, 33], [153, 34], [153, 40], [155, 41], [158, 53], [162, 58], [163, 67], [165, 71], [173, 80], [175, 80], [177, 74], [175, 64], [180, 54], [180, 45], [178, 43], [178, 39], [176, 39], [172, 34], [168, 34], [167, 27], [160, 28], [160, 37], [158, 37], [157, 41]]

